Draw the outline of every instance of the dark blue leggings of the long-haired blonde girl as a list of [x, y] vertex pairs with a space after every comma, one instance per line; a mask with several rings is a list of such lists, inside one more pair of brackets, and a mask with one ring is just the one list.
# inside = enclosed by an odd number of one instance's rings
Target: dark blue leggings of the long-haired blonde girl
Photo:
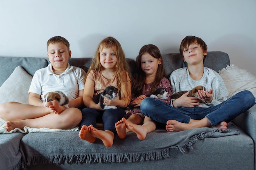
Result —
[[98, 111], [93, 108], [84, 108], [82, 110], [82, 121], [81, 127], [83, 125], [89, 126], [92, 124], [93, 127], [96, 127], [96, 123], [103, 122], [104, 130], [110, 130], [115, 135], [117, 134], [115, 123], [121, 120], [126, 114], [124, 108], [116, 108], [116, 109], [107, 109]]

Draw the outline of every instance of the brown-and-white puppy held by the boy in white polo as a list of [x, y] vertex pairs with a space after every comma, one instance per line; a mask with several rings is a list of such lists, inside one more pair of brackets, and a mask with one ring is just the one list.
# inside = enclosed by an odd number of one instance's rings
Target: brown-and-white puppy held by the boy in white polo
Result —
[[66, 108], [68, 108], [69, 99], [63, 92], [54, 91], [54, 92], [48, 92], [44, 95], [45, 105], [47, 102], [51, 102], [53, 100], [57, 100], [59, 105], [65, 106]]

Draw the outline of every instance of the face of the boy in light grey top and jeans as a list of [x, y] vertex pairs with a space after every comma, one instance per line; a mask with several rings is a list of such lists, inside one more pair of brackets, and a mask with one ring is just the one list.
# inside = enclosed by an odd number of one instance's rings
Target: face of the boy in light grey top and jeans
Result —
[[183, 60], [190, 65], [203, 63], [204, 55], [207, 55], [207, 51], [203, 52], [199, 44], [191, 44], [183, 49]]

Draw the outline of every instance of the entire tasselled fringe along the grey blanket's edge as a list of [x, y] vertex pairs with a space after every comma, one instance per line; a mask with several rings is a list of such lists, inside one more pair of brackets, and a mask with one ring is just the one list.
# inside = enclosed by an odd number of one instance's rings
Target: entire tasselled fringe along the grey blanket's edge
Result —
[[[192, 145], [202, 139], [212, 137], [216, 132], [228, 133], [231, 130], [213, 129], [211, 132], [201, 132], [189, 138], [189, 140], [181, 145], [170, 146], [168, 148], [152, 150], [148, 152], [133, 152], [133, 153], [92, 153], [92, 154], [62, 154], [49, 155], [47, 157], [37, 155], [27, 157], [22, 160], [21, 167], [26, 169], [26, 166], [46, 164], [46, 163], [121, 163], [121, 162], [136, 162], [136, 161], [150, 161], [159, 160], [170, 157], [170, 149], [175, 148], [180, 152], [185, 153], [186, 149], [193, 149]], [[238, 135], [238, 131], [235, 132]]]

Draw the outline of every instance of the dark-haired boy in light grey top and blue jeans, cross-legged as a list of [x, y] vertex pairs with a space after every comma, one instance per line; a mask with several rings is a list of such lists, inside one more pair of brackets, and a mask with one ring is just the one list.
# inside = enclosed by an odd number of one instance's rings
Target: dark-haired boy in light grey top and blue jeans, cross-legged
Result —
[[[227, 129], [227, 122], [255, 104], [250, 91], [241, 91], [227, 99], [227, 88], [218, 73], [204, 67], [207, 45], [195, 36], [187, 36], [180, 44], [180, 54], [187, 67], [173, 71], [170, 76], [173, 94], [187, 91], [195, 86], [205, 86], [197, 97], [188, 97], [189, 91], [166, 105], [153, 98], [141, 102], [141, 112], [151, 119], [166, 124], [168, 132], [216, 127]], [[198, 107], [202, 106], [202, 107]]]

